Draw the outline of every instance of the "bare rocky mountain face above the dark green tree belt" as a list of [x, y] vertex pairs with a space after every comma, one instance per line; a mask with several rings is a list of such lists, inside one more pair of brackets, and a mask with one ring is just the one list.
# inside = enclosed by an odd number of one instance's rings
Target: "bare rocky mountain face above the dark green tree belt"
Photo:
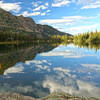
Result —
[[[21, 16], [14, 16], [10, 12], [7, 12], [0, 8], [0, 27], [9, 27], [17, 30], [31, 32], [36, 37], [49, 37], [51, 35], [63, 35], [65, 33], [58, 31], [57, 29], [48, 26], [36, 24], [32, 18]], [[68, 34], [70, 35], [70, 34]]]

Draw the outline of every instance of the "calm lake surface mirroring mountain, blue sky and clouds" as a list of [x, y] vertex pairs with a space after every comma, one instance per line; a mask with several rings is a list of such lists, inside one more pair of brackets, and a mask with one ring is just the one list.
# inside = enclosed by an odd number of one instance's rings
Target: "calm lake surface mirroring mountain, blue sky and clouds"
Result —
[[0, 45], [0, 92], [100, 98], [100, 50], [73, 44]]

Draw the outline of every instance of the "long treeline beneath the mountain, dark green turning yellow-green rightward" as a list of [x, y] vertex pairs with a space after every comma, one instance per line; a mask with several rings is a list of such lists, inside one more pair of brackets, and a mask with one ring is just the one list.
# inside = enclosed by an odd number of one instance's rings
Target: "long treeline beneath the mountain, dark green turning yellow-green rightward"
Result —
[[[52, 33], [52, 32], [51, 32]], [[36, 33], [36, 32], [26, 32], [24, 30], [19, 30], [11, 27], [1, 27], [0, 26], [0, 42], [12, 42], [12, 41], [46, 41], [46, 42], [61, 42], [67, 41], [68, 35], [51, 35], [48, 33]]]

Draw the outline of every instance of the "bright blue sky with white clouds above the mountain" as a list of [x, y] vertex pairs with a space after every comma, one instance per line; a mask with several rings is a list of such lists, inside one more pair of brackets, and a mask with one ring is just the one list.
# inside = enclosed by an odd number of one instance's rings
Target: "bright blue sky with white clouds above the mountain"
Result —
[[0, 8], [73, 35], [100, 30], [100, 0], [0, 0]]

